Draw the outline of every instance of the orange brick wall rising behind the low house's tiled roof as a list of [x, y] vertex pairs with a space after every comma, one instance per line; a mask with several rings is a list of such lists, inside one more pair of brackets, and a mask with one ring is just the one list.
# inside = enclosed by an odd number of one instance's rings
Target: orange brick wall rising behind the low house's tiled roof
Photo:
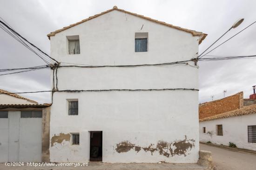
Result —
[[199, 105], [199, 119], [225, 113], [243, 107], [243, 92], [220, 100], [205, 102]]

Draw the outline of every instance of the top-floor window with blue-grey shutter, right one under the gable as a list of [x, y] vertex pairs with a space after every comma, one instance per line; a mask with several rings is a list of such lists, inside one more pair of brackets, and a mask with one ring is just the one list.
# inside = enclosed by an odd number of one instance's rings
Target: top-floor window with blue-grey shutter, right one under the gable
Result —
[[135, 32], [135, 52], [148, 51], [148, 32]]

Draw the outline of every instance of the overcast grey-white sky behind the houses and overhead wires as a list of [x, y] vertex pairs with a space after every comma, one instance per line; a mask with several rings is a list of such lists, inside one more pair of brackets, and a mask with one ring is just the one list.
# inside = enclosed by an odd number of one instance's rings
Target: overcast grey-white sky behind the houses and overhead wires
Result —
[[[0, 17], [23, 37], [50, 54], [47, 34], [101, 13], [113, 6], [173, 25], [207, 33], [199, 46], [205, 50], [240, 18], [244, 22], [219, 42], [256, 21], [255, 0], [0, 0]], [[0, 69], [43, 65], [43, 61], [0, 29]], [[199, 52], [199, 53], [200, 53]], [[256, 55], [256, 24], [212, 51], [209, 55]], [[256, 59], [201, 62], [199, 102], [244, 92], [249, 98], [256, 85]], [[0, 76], [0, 88], [11, 92], [50, 90], [50, 71], [36, 70]], [[50, 102], [49, 93], [22, 94]]]

